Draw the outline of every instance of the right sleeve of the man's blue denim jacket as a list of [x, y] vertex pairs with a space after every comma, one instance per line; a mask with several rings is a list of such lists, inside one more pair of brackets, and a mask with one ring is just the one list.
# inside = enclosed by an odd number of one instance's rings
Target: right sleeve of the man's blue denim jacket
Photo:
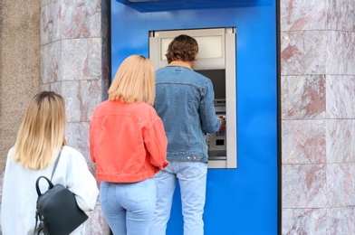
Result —
[[221, 122], [216, 117], [214, 106], [215, 92], [211, 80], [207, 80], [201, 92], [199, 116], [202, 130], [206, 133], [214, 133], [221, 127]]

